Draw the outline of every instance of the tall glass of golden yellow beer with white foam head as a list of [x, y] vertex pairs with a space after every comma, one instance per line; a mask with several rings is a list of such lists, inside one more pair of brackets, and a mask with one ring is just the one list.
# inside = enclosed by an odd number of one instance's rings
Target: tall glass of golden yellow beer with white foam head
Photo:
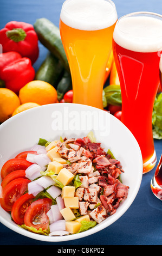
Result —
[[69, 62], [73, 102], [103, 109], [102, 90], [117, 20], [109, 0], [66, 0], [60, 34]]

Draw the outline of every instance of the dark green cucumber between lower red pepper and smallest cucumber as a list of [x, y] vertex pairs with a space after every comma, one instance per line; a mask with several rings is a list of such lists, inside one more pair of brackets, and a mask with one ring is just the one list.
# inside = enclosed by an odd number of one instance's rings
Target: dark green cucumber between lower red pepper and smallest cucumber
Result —
[[35, 80], [50, 83], [55, 88], [59, 83], [64, 72], [64, 66], [60, 59], [48, 52], [46, 59], [38, 69]]

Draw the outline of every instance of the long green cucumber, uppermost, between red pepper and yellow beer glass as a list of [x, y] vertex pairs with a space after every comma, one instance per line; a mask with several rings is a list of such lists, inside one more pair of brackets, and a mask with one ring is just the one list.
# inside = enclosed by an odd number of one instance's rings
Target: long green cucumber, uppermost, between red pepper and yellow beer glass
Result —
[[38, 39], [51, 53], [62, 61], [64, 68], [70, 73], [68, 60], [64, 51], [60, 30], [46, 18], [37, 19], [34, 29]]

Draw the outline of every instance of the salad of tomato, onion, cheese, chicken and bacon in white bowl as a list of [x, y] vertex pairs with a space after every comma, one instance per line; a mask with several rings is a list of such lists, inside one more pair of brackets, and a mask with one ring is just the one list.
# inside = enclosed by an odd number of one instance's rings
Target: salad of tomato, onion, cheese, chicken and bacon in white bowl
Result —
[[22, 228], [49, 236], [80, 233], [115, 214], [128, 196], [124, 173], [94, 135], [40, 139], [4, 163], [0, 203]]

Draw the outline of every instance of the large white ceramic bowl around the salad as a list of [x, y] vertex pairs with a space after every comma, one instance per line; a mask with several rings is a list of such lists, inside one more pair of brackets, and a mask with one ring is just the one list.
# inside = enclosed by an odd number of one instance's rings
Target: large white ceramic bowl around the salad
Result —
[[[137, 196], [142, 179], [142, 156], [132, 133], [113, 115], [85, 105], [55, 103], [29, 109], [8, 119], [0, 126], [0, 170], [5, 161], [24, 150], [29, 150], [39, 138], [48, 141], [84, 137], [93, 131], [97, 142], [105, 150], [111, 149], [124, 174], [122, 181], [129, 186], [128, 198], [116, 213], [85, 232], [66, 236], [44, 236], [31, 233], [11, 221], [10, 215], [0, 207], [0, 221], [8, 228], [41, 241], [68, 241], [96, 233], [118, 220]], [[1, 180], [0, 180], [1, 182]]]

